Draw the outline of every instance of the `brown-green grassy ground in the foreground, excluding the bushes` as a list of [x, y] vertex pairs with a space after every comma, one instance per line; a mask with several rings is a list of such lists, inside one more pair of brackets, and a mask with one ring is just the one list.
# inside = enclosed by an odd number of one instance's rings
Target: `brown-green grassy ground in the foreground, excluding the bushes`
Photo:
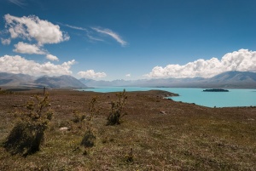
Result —
[[[0, 94], [2, 143], [36, 94], [43, 93]], [[163, 99], [167, 94], [127, 93], [127, 115], [111, 125], [116, 94], [51, 90], [54, 115], [40, 151], [23, 157], [1, 146], [0, 170], [256, 170], [255, 107], [207, 108]], [[81, 145], [89, 124], [90, 147]]]

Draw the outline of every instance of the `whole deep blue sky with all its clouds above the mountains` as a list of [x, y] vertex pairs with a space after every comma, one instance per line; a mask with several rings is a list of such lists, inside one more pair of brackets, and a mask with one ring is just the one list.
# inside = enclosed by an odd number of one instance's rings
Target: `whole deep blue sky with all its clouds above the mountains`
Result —
[[256, 71], [255, 0], [0, 0], [0, 71], [102, 80]]

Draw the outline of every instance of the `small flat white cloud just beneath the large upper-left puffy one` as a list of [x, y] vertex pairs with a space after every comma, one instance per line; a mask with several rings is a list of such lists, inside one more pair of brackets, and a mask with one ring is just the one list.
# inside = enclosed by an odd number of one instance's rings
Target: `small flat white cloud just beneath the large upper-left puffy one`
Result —
[[46, 54], [45, 50], [40, 49], [36, 44], [23, 42], [15, 44], [14, 51], [20, 54]]

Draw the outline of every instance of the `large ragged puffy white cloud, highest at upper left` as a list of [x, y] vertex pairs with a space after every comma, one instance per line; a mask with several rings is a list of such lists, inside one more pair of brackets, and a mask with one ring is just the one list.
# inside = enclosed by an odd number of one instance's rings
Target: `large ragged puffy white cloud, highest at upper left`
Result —
[[35, 15], [15, 17], [5, 14], [4, 19], [11, 38], [35, 39], [39, 45], [61, 43], [69, 39], [68, 35], [60, 30], [60, 26], [40, 20]]

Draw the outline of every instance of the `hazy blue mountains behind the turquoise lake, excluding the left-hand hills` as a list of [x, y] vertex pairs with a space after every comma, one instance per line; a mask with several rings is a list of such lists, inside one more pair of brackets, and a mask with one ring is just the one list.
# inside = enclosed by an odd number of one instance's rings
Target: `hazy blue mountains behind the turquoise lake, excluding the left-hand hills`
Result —
[[158, 78], [134, 81], [96, 81], [82, 78], [80, 81], [88, 87], [256, 88], [256, 73], [227, 71], [210, 78]]

